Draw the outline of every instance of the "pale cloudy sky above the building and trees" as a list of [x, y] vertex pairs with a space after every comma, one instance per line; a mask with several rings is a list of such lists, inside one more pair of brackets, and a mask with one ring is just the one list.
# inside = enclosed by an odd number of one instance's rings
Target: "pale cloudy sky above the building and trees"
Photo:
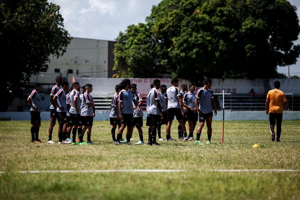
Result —
[[[144, 23], [151, 13], [152, 5], [161, 0], [49, 0], [61, 7], [64, 27], [72, 37], [99, 40], [115, 40], [128, 25]], [[289, 0], [297, 7], [300, 19], [300, 0]], [[295, 41], [300, 44], [300, 39]], [[288, 67], [277, 67], [287, 75]], [[300, 76], [300, 59], [289, 66], [290, 76]]]

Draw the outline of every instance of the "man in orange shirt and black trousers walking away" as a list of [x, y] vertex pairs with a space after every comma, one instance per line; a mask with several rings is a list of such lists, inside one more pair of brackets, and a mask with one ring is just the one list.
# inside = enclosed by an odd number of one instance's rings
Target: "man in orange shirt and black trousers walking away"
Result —
[[279, 88], [280, 88], [280, 82], [275, 81], [274, 89], [268, 91], [267, 99], [265, 101], [265, 114], [269, 115], [269, 125], [270, 125], [272, 141], [275, 140], [274, 127], [277, 122], [276, 142], [280, 142], [283, 103], [286, 109], [289, 108], [285, 94], [283, 91], [279, 90]]

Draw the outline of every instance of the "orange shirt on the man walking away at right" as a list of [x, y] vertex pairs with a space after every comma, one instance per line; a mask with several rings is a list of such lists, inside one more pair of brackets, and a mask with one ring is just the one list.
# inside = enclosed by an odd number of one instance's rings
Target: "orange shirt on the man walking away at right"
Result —
[[269, 112], [283, 113], [283, 102], [286, 102], [286, 97], [283, 91], [279, 89], [270, 90], [267, 94], [270, 99]]

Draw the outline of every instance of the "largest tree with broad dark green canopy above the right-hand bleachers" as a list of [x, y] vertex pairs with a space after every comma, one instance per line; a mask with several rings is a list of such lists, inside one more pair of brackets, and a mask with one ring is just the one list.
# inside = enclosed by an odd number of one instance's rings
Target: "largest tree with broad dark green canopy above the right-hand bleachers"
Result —
[[146, 25], [159, 66], [194, 82], [276, 77], [276, 67], [295, 64], [300, 53], [296, 7], [286, 0], [163, 0]]

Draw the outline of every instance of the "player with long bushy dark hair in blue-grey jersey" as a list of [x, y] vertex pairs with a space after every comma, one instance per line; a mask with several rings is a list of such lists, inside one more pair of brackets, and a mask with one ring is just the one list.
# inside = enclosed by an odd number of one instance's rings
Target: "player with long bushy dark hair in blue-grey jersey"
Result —
[[[122, 82], [119, 84], [120, 89], [122, 89], [119, 92], [119, 113], [120, 113], [120, 119], [121, 119], [121, 127], [118, 130], [117, 135], [117, 141], [116, 145], [122, 145], [122, 143], [127, 143], [127, 145], [131, 145], [130, 138], [131, 138], [131, 124], [133, 121], [133, 106], [132, 101], [134, 102], [134, 105], [137, 106], [137, 111], [140, 112], [140, 106], [138, 105], [137, 101], [133, 97], [133, 93], [131, 90], [129, 90], [130, 87], [130, 80], [129, 79], [123, 79]], [[122, 141], [120, 143], [120, 139], [122, 138], [122, 133], [127, 126], [127, 140]]]

